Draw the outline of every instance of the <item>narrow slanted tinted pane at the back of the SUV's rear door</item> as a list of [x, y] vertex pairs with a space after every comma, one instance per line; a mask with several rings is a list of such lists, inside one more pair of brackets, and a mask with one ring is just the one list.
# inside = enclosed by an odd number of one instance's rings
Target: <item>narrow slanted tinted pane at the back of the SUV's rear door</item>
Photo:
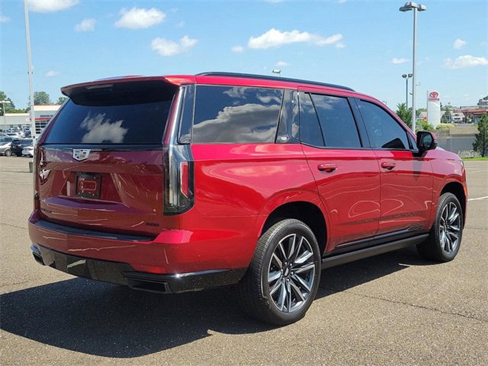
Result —
[[300, 93], [300, 141], [313, 146], [324, 146], [319, 119], [309, 94]]

